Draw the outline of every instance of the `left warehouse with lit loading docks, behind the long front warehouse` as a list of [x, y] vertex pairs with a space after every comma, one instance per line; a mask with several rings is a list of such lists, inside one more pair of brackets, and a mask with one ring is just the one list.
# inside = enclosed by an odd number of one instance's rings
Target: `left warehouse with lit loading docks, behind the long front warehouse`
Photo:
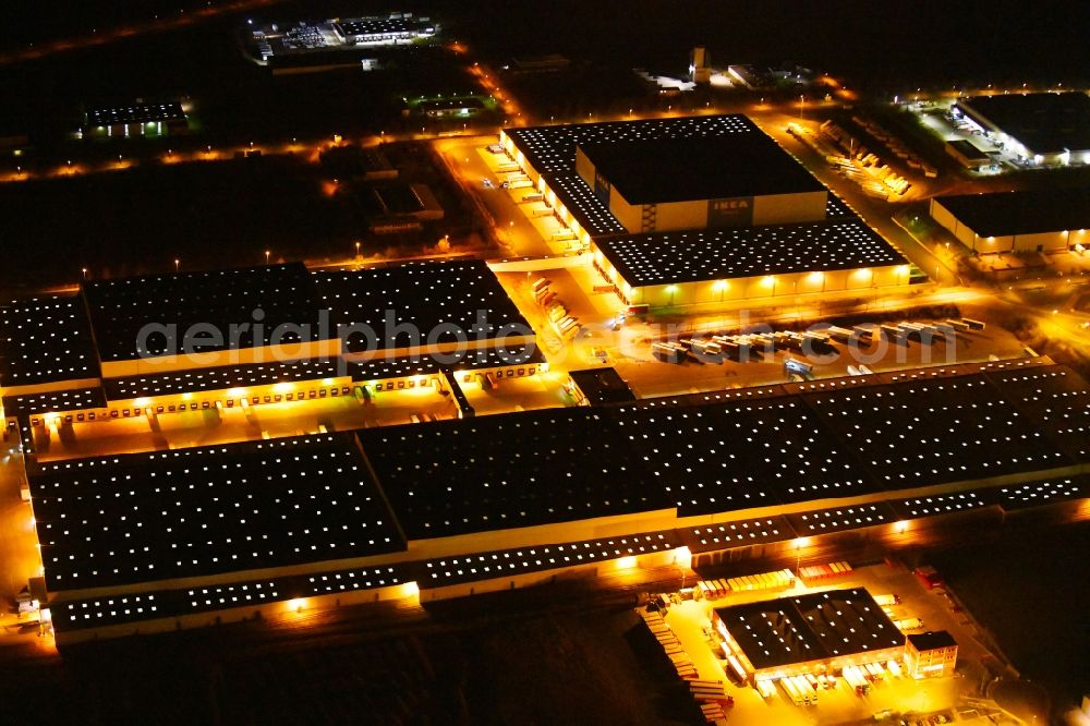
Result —
[[545, 367], [481, 261], [156, 275], [0, 305], [0, 410], [28, 455], [63, 423], [446, 390]]

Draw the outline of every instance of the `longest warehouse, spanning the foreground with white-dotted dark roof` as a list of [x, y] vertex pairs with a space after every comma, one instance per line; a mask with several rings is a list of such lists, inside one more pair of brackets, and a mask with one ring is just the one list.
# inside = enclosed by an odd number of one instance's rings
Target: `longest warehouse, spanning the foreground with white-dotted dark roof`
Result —
[[1077, 503], [1088, 400], [1070, 370], [1024, 359], [27, 473], [63, 643]]

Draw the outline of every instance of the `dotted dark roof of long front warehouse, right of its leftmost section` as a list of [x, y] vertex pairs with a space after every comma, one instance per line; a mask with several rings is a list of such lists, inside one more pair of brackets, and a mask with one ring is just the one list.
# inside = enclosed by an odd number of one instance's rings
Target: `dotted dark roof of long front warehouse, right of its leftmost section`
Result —
[[[729, 512], [1071, 464], [1063, 437], [1041, 429], [1053, 409], [1019, 411], [982, 367], [897, 383], [874, 376], [822, 392], [770, 387], [758, 397], [529, 411], [360, 437], [409, 539], [675, 507], [681, 517]], [[1063, 366], [1029, 370], [1075, 376]], [[896, 519], [881, 504], [807, 512], [792, 524], [816, 534]]]

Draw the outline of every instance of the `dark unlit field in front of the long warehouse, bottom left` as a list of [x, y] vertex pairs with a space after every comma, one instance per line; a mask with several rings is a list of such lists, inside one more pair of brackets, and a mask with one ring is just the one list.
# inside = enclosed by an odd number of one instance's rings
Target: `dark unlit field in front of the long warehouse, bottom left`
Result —
[[7, 658], [0, 695], [12, 723], [641, 726], [694, 715], [627, 607], [498, 609], [400, 634], [355, 618], [104, 642], [63, 662]]

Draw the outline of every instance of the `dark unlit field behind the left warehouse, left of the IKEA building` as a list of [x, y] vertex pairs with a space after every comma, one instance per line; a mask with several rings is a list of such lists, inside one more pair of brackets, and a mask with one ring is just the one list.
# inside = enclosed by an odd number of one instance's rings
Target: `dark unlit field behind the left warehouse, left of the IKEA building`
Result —
[[[372, 185], [291, 155], [165, 166], [10, 184], [0, 195], [4, 265], [0, 285], [75, 282], [81, 268], [106, 278], [271, 259], [340, 261], [363, 254], [420, 254], [445, 233], [455, 244], [480, 230], [472, 210], [426, 146], [390, 144], [404, 182], [435, 192], [446, 217], [420, 233], [367, 232], [377, 209]], [[476, 239], [476, 238], [473, 238]]]

